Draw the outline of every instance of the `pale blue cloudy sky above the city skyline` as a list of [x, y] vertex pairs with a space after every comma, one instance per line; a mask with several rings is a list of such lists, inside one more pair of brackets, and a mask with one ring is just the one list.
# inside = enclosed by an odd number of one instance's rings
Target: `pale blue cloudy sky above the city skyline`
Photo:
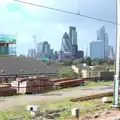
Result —
[[[115, 0], [22, 0], [47, 7], [115, 22]], [[63, 2], [61, 2], [63, 1]], [[88, 18], [34, 7], [14, 0], [0, 0], [0, 33], [17, 34], [17, 53], [27, 54], [36, 42], [48, 41], [51, 48], [60, 50], [64, 32], [75, 26], [80, 50], [89, 50], [89, 43], [97, 40], [97, 30], [103, 25], [109, 44], [115, 45], [115, 25]]]

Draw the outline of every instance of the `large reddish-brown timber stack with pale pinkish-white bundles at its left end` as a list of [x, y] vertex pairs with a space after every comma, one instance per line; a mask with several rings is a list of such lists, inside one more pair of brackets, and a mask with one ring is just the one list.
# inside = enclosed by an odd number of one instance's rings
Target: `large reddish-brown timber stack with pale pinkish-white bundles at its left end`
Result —
[[48, 77], [29, 77], [17, 78], [11, 83], [11, 86], [17, 90], [17, 93], [48, 92], [53, 90], [53, 82]]

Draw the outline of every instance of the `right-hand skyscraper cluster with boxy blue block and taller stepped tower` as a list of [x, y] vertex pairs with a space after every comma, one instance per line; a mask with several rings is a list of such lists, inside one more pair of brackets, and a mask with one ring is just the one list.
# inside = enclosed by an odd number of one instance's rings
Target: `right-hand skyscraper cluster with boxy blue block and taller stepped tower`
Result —
[[97, 30], [96, 41], [90, 42], [90, 57], [95, 58], [114, 58], [114, 47], [109, 44], [109, 36], [106, 28], [102, 26]]

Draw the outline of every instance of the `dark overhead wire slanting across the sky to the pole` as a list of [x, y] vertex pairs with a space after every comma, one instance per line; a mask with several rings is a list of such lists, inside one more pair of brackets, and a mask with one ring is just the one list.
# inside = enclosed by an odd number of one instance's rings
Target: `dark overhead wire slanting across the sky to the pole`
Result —
[[71, 14], [71, 15], [77, 15], [77, 16], [80, 16], [80, 17], [89, 18], [89, 19], [92, 19], [92, 20], [97, 20], [97, 21], [117, 25], [115, 22], [100, 19], [100, 18], [96, 18], [96, 17], [92, 17], [92, 16], [88, 16], [88, 15], [84, 15], [84, 14], [80, 14], [79, 12], [78, 13], [70, 12], [70, 11], [61, 10], [61, 9], [57, 9], [57, 8], [47, 7], [47, 6], [38, 5], [38, 4], [34, 4], [34, 3], [29, 3], [29, 2], [24, 2], [24, 1], [21, 1], [21, 0], [14, 0], [14, 1], [24, 3], [24, 4], [29, 4], [29, 5], [36, 6], [36, 7], [41, 7], [41, 8], [45, 8], [45, 9], [50, 9], [50, 10], [54, 10], [54, 11], [58, 11], [58, 12], [63, 12], [63, 13]]

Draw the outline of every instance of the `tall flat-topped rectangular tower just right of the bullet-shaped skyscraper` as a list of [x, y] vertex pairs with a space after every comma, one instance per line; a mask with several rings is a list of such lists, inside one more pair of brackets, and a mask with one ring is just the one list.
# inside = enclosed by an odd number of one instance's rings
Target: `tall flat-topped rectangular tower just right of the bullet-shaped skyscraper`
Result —
[[69, 27], [69, 36], [72, 45], [77, 45], [77, 32], [76, 27], [70, 26]]

